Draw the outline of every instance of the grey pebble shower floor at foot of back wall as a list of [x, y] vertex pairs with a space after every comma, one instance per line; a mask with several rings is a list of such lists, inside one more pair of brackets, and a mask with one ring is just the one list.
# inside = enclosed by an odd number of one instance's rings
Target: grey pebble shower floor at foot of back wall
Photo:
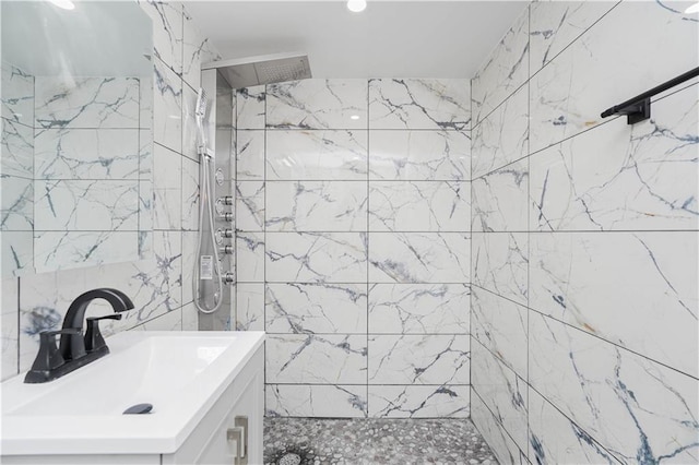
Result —
[[467, 419], [265, 418], [264, 463], [495, 465], [498, 462]]

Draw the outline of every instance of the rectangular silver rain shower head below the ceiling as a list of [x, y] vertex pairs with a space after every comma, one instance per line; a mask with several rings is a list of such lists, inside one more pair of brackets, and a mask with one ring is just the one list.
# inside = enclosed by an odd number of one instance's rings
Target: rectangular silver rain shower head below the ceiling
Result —
[[258, 57], [214, 61], [202, 70], [218, 70], [230, 87], [242, 88], [311, 76], [308, 56], [301, 52], [261, 55]]

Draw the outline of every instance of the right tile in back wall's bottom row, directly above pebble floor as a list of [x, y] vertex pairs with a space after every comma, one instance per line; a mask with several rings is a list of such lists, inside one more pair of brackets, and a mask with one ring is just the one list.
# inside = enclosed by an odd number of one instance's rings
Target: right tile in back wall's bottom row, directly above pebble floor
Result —
[[369, 386], [369, 417], [469, 418], [469, 386]]

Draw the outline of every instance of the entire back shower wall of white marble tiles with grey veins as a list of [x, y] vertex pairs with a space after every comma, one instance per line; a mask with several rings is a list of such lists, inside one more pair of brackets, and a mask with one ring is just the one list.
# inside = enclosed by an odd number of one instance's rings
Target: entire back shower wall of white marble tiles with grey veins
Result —
[[266, 413], [469, 415], [467, 80], [237, 96], [237, 327]]

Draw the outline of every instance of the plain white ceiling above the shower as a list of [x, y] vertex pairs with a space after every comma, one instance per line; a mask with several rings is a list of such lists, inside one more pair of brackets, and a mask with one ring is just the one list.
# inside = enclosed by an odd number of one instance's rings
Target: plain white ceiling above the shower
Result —
[[525, 1], [189, 1], [224, 59], [308, 53], [313, 78], [471, 78]]

